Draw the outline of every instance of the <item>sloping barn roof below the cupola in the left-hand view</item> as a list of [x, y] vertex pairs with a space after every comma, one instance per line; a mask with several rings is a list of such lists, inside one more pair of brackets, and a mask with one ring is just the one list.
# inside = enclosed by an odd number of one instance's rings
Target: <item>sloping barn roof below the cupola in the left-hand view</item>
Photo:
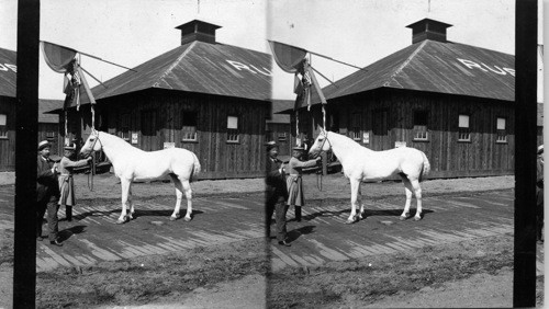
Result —
[[104, 99], [145, 89], [168, 89], [270, 100], [271, 56], [231, 45], [193, 41], [92, 89]]

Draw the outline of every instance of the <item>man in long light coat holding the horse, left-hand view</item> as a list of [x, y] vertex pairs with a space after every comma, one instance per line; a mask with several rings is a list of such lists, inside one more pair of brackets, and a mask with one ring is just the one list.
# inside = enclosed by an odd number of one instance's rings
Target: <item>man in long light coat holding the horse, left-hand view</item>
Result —
[[91, 156], [87, 159], [72, 161], [75, 159], [76, 145], [65, 146], [65, 156], [59, 162], [59, 206], [65, 206], [67, 221], [72, 221], [72, 206], [76, 205], [75, 181], [72, 180], [72, 169], [87, 165], [92, 160]]

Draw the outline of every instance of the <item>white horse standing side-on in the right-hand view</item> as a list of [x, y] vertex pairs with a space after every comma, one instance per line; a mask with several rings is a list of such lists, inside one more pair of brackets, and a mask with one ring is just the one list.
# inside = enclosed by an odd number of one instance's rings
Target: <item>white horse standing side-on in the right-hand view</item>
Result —
[[[339, 159], [345, 176], [350, 181], [351, 211], [346, 224], [362, 219], [365, 206], [361, 203], [360, 183], [365, 181], [380, 181], [392, 175], [400, 175], [406, 190], [406, 204], [400, 217], [405, 220], [410, 217], [412, 192], [417, 199], [415, 220], [422, 219], [422, 187], [419, 182], [429, 170], [429, 160], [423, 151], [415, 148], [399, 147], [384, 151], [373, 151], [360, 146], [352, 139], [321, 128], [321, 134], [309, 150], [315, 156], [321, 151], [332, 149]], [[357, 201], [360, 203], [360, 213], [357, 216]]]

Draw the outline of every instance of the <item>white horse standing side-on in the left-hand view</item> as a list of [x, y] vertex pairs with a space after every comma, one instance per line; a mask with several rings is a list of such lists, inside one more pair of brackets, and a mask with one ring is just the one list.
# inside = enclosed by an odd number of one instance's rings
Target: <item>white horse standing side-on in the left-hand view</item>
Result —
[[[87, 156], [91, 151], [100, 149], [103, 149], [107, 158], [111, 161], [114, 174], [120, 179], [122, 186], [122, 214], [120, 214], [116, 224], [124, 224], [133, 219], [132, 182], [159, 180], [167, 175], [176, 185], [177, 195], [176, 208], [170, 220], [177, 220], [180, 217], [179, 209], [183, 192], [187, 197], [184, 220], [191, 220], [192, 191], [190, 182], [200, 172], [200, 162], [193, 152], [182, 148], [143, 151], [120, 137], [92, 130], [80, 153]], [[130, 209], [130, 214], [126, 214], [126, 209]]]

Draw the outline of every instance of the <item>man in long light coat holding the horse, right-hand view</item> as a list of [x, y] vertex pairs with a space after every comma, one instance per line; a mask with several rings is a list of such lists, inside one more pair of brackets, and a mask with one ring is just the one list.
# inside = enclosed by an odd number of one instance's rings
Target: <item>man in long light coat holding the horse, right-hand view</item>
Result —
[[303, 182], [302, 174], [304, 168], [315, 167], [318, 161], [322, 160], [321, 157], [317, 157], [314, 160], [302, 161], [305, 154], [305, 148], [303, 147], [294, 147], [292, 158], [288, 163], [287, 172], [289, 173], [285, 182], [288, 186], [288, 203], [289, 207], [294, 207], [295, 220], [298, 222], [301, 221], [301, 206], [305, 205], [305, 197], [303, 194]]

